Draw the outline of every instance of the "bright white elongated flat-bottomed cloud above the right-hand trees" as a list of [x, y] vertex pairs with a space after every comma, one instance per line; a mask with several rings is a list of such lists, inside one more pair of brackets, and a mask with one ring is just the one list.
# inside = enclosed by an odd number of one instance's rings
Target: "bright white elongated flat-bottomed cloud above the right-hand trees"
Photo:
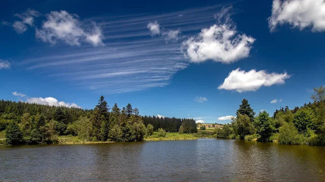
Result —
[[237, 68], [229, 73], [218, 89], [236, 90], [237, 92], [255, 91], [261, 86], [271, 86], [273, 84], [284, 84], [285, 79], [291, 75], [284, 73], [267, 73], [265, 70], [256, 71], [252, 69], [248, 72]]

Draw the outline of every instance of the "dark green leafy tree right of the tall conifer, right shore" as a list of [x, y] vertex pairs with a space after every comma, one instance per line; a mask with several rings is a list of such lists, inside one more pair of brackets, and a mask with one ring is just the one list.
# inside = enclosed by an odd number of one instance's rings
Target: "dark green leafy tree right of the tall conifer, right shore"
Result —
[[268, 142], [274, 131], [271, 118], [266, 111], [260, 112], [255, 120], [256, 133], [259, 135], [258, 141]]

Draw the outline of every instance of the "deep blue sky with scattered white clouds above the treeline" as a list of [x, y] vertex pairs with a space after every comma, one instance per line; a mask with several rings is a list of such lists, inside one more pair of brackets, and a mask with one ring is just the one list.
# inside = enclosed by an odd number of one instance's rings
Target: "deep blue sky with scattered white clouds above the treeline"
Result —
[[[324, 85], [325, 2], [5, 1], [0, 98], [141, 115], [234, 116], [310, 102]], [[239, 69], [240, 68], [240, 69]], [[271, 101], [277, 100], [271, 103]]]

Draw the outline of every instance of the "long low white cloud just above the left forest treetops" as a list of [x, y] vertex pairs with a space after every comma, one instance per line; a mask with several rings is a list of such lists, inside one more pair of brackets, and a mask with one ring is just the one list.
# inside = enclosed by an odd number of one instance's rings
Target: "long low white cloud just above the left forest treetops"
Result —
[[75, 103], [66, 103], [63, 101], [58, 101], [55, 98], [47, 97], [47, 98], [27, 98], [27, 103], [36, 103], [36, 104], [43, 104], [43, 105], [49, 105], [49, 106], [64, 106], [64, 107], [74, 107], [74, 108], [81, 108]]

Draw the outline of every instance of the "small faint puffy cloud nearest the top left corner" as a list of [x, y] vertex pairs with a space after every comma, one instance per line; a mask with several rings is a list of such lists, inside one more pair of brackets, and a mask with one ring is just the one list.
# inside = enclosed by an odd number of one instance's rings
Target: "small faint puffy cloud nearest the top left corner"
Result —
[[38, 11], [28, 9], [26, 12], [21, 14], [15, 14], [16, 17], [20, 18], [21, 21], [15, 21], [12, 26], [17, 33], [25, 32], [28, 26], [34, 26], [35, 17], [39, 17], [41, 14]]

